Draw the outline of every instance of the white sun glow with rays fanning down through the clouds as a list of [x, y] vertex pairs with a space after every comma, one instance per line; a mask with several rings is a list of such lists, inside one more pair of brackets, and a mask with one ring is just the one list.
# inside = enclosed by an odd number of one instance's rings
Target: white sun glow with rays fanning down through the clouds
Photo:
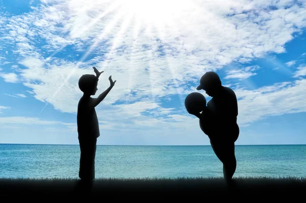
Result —
[[[90, 12], [90, 9], [94, 7], [96, 2], [88, 1], [88, 5], [80, 10], [78, 10], [79, 14]], [[98, 3], [97, 3], [98, 4]], [[103, 4], [103, 3], [100, 3]], [[75, 67], [71, 70], [71, 72], [67, 75], [66, 79], [59, 85], [58, 89], [54, 92], [52, 97], [53, 100], [59, 91], [65, 86], [71, 77], [77, 71], [84, 62], [87, 61], [89, 56], [93, 56], [96, 53], [96, 50], [99, 50], [99, 45], [103, 43], [107, 43], [109, 47], [107, 48], [107, 53], [103, 56], [104, 60], [102, 62], [102, 66], [99, 69], [104, 70], [107, 67], [110, 60], [113, 59], [117, 54], [117, 48], [123, 44], [123, 40], [129, 39], [130, 44], [127, 46], [130, 47], [129, 53], [125, 53], [126, 57], [129, 57], [130, 64], [129, 69], [127, 69], [127, 73], [129, 74], [129, 89], [132, 89], [131, 86], [131, 74], [137, 74], [135, 67], [133, 67], [133, 63], [135, 61], [132, 60], [141, 60], [141, 59], [133, 59], [133, 56], [137, 55], [141, 50], [139, 49], [139, 45], [144, 44], [144, 39], [157, 40], [162, 39], [166, 40], [169, 36], [166, 32], [174, 32], [175, 34], [179, 34], [180, 19], [184, 18], [184, 10], [190, 9], [191, 7], [196, 7], [194, 3], [187, 1], [162, 1], [162, 0], [150, 0], [150, 1], [141, 1], [141, 0], [131, 0], [131, 1], [123, 1], [117, 0], [112, 2], [104, 11], [95, 14], [96, 16], [92, 18], [83, 28], [80, 30], [73, 30], [70, 35], [74, 37], [81, 37], [84, 33], [97, 32], [100, 34], [95, 35], [95, 38], [92, 39], [91, 45], [87, 48], [86, 52], [81, 56], [80, 60], [75, 64]], [[87, 9], [87, 10], [86, 10]], [[77, 15], [78, 15], [77, 12]], [[107, 20], [106, 20], [107, 19]], [[96, 24], [106, 23], [105, 26], [95, 26]], [[102, 28], [103, 27], [103, 28]], [[98, 29], [98, 30], [97, 30]], [[100, 30], [99, 30], [100, 29]], [[129, 29], [132, 30], [132, 32]], [[129, 33], [129, 35], [126, 35]], [[132, 33], [132, 34], [131, 34]], [[141, 37], [139, 37], [141, 35]], [[143, 41], [142, 41], [143, 40]], [[137, 43], [136, 43], [137, 41]], [[160, 42], [159, 42], [160, 43]], [[163, 43], [163, 41], [161, 41]], [[137, 44], [137, 45], [136, 45]], [[156, 45], [154, 45], [156, 46]], [[105, 47], [105, 46], [104, 46]], [[58, 52], [63, 49], [61, 47], [56, 52], [51, 54], [46, 59], [50, 59], [54, 57]], [[154, 59], [154, 50], [149, 50], [146, 54], [146, 58], [148, 60], [148, 80], [149, 84], [151, 84], [151, 96], [155, 99], [155, 87], [154, 85], [156, 81], [154, 81], [154, 77], [152, 74], [160, 74], [154, 71], [154, 67], [156, 66], [156, 61]], [[168, 59], [167, 54], [165, 54], [161, 60], [165, 60], [165, 66], [163, 68], [168, 68], [169, 72], [172, 75], [174, 86], [179, 87], [177, 83], [176, 71], [171, 66], [170, 61]], [[137, 63], [137, 62], [136, 62]], [[146, 67], [142, 67], [145, 69]], [[177, 94], [180, 93], [175, 90]], [[127, 94], [130, 94], [127, 91]], [[181, 97], [180, 97], [181, 98]], [[183, 98], [181, 98], [181, 104], [183, 105]], [[45, 106], [46, 107], [46, 106]], [[45, 108], [44, 107], [44, 108]], [[43, 109], [44, 109], [43, 108]], [[40, 113], [43, 111], [40, 111]], [[40, 114], [39, 113], [39, 114]]]

